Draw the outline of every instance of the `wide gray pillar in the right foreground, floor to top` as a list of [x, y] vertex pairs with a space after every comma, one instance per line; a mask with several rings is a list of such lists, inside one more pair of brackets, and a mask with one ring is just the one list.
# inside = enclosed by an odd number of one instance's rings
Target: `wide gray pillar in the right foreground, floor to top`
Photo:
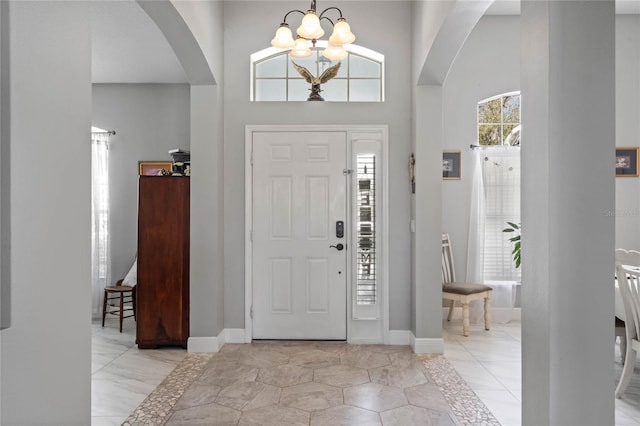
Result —
[[614, 423], [614, 9], [522, 4], [524, 425]]

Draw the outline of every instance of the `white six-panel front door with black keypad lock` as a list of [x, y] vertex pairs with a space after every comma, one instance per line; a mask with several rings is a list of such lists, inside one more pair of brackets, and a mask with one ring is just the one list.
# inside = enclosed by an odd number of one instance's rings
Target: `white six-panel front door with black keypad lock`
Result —
[[346, 132], [254, 132], [252, 149], [253, 338], [346, 339]]

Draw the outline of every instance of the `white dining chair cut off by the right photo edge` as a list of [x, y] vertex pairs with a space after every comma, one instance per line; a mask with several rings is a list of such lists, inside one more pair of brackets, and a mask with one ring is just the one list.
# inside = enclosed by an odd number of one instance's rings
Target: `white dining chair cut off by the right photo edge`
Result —
[[624, 350], [624, 367], [618, 386], [616, 398], [622, 397], [633, 375], [636, 355], [640, 351], [640, 252], [635, 250], [616, 250], [616, 277], [618, 288], [624, 305], [624, 328], [626, 348]]

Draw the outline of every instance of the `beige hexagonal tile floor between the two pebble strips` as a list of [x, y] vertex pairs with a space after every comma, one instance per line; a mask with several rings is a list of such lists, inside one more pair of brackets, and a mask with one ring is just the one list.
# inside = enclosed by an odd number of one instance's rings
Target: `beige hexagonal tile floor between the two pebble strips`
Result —
[[427, 377], [408, 346], [225, 345], [166, 425], [459, 425]]

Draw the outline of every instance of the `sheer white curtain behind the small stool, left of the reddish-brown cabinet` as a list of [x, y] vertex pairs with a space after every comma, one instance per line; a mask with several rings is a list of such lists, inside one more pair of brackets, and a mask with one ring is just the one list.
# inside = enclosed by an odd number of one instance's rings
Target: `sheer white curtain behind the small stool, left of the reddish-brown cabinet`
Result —
[[91, 133], [91, 300], [102, 315], [104, 288], [111, 284], [109, 248], [109, 133]]

